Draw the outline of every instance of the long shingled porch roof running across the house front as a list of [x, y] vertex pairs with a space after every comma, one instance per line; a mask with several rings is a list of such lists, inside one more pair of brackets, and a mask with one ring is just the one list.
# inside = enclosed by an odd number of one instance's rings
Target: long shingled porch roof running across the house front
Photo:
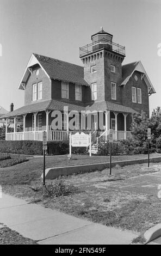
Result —
[[33, 104], [28, 104], [23, 107], [17, 108], [13, 112], [9, 112], [8, 114], [3, 115], [3, 118], [7, 117], [15, 117], [16, 115], [23, 115], [23, 114], [28, 114], [28, 113], [33, 113], [33, 112], [38, 112], [38, 111], [46, 111], [46, 110], [60, 110], [63, 111], [64, 107], [67, 106], [69, 111], [115, 111], [115, 112], [123, 112], [123, 113], [138, 113], [134, 109], [123, 106], [121, 104], [117, 104], [115, 102], [110, 102], [110, 101], [103, 101], [103, 102], [95, 102], [92, 103], [91, 105], [86, 105], [86, 106], [80, 106], [80, 105], [75, 105], [71, 104], [68, 102], [64, 101], [58, 101], [58, 100], [47, 100], [47, 101], [41, 101]]

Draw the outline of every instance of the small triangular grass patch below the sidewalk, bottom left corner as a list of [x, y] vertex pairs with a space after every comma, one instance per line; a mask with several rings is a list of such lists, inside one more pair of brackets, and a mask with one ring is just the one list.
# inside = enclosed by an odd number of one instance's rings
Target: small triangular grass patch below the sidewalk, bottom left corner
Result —
[[0, 228], [0, 245], [37, 245], [37, 243], [3, 225]]

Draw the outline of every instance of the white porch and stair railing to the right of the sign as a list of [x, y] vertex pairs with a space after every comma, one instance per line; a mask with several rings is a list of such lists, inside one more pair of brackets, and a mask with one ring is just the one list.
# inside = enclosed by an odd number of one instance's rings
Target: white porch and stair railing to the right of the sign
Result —
[[[122, 139], [127, 139], [131, 137], [131, 131], [113, 131], [114, 141], [121, 141]], [[99, 141], [108, 141], [109, 140], [109, 130], [104, 131], [99, 137]]]

